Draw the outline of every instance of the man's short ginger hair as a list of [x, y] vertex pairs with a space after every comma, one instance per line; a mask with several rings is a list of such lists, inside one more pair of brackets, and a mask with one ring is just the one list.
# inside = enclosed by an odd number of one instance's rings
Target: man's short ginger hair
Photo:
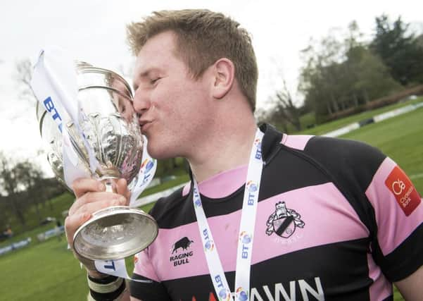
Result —
[[255, 110], [258, 68], [251, 36], [239, 23], [222, 13], [204, 9], [155, 11], [141, 22], [127, 25], [127, 41], [138, 55], [148, 39], [161, 32], [176, 35], [176, 51], [195, 79], [218, 59], [234, 63], [235, 78], [241, 92]]

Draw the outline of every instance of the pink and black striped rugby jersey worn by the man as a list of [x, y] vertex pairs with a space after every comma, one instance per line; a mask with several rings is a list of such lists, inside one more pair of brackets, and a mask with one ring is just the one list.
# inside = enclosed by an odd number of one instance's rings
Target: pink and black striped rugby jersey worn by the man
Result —
[[[423, 264], [423, 205], [403, 171], [377, 149], [328, 137], [282, 135], [264, 125], [249, 300], [392, 300], [392, 281]], [[247, 166], [199, 184], [230, 288]], [[192, 188], [159, 199], [158, 238], [135, 258], [131, 295], [227, 300], [215, 295]], [[253, 221], [251, 221], [253, 222]]]

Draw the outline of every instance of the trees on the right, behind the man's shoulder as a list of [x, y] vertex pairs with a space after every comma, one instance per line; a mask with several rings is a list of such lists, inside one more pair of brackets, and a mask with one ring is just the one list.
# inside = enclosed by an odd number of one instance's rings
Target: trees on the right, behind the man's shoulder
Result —
[[[298, 106], [282, 80], [272, 97], [272, 108], [259, 111], [261, 121], [302, 130], [300, 116], [312, 112], [315, 124], [340, 112], [364, 106], [374, 99], [423, 83], [423, 35], [416, 36], [400, 17], [375, 18], [372, 40], [363, 40], [358, 24], [348, 25], [341, 36], [329, 33], [310, 40], [301, 51], [303, 66], [298, 91], [304, 102]], [[350, 110], [351, 111], [351, 110]]]

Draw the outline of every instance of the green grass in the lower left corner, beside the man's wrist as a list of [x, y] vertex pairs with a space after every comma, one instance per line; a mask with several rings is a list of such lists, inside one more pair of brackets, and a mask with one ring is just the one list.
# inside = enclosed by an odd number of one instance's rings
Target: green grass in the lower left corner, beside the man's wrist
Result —
[[85, 300], [86, 273], [56, 238], [1, 257], [1, 300]]

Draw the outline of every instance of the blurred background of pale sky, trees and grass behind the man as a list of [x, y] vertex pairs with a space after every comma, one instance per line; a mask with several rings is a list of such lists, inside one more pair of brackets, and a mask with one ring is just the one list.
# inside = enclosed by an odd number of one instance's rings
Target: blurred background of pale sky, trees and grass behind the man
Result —
[[[47, 164], [29, 86], [31, 61], [42, 47], [61, 46], [131, 81], [127, 23], [160, 9], [220, 11], [251, 32], [260, 73], [258, 122], [379, 147], [422, 193], [420, 2], [1, 1], [0, 300], [87, 295], [84, 271], [63, 234], [74, 197]], [[159, 161], [142, 208], [187, 180], [182, 159]]]

